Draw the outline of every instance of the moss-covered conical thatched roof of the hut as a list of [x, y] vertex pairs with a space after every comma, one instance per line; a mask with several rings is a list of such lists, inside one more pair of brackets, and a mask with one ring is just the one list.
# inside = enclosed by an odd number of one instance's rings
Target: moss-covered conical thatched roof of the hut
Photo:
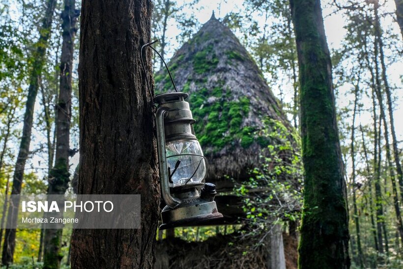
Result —
[[[224, 176], [242, 179], [249, 168], [259, 165], [260, 149], [279, 143], [259, 136], [260, 130], [270, 128], [265, 119], [291, 130], [255, 61], [214, 16], [168, 66], [177, 89], [189, 93], [196, 136], [208, 159], [207, 181]], [[155, 76], [155, 89], [173, 90], [165, 69]]]

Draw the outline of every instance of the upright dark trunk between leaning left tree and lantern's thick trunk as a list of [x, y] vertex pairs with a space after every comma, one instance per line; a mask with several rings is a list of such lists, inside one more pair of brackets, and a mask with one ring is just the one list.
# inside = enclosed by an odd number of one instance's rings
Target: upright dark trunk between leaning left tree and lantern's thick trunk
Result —
[[[73, 70], [74, 37], [79, 11], [75, 0], [64, 0], [62, 19], [62, 47], [60, 58], [60, 87], [56, 118], [56, 159], [49, 173], [48, 194], [64, 194], [69, 182], [69, 150], [71, 121], [71, 73]], [[61, 218], [63, 212], [56, 213]], [[46, 229], [44, 233], [44, 268], [59, 268], [62, 259], [62, 229]]]

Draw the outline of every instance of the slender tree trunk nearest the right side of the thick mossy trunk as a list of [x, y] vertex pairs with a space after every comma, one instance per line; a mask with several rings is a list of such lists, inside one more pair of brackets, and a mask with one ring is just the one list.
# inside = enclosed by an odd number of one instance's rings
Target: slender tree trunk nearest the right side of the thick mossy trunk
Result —
[[354, 99], [354, 110], [353, 110], [353, 122], [351, 126], [351, 163], [352, 163], [352, 196], [353, 196], [353, 210], [354, 210], [354, 222], [355, 222], [355, 231], [357, 233], [357, 251], [358, 251], [358, 263], [360, 268], [364, 268], [363, 262], [363, 254], [361, 248], [361, 233], [360, 233], [360, 218], [358, 216], [358, 209], [357, 209], [357, 198], [356, 198], [356, 183], [355, 183], [355, 148], [354, 148], [354, 132], [355, 132], [355, 116], [357, 112], [357, 103], [358, 103], [358, 85], [360, 80], [357, 81], [357, 86], [355, 88], [355, 99]]

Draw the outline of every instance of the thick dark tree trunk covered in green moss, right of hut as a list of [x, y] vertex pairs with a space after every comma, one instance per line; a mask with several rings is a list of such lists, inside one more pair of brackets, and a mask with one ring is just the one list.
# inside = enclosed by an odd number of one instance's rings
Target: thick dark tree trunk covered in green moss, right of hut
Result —
[[290, 0], [305, 168], [299, 268], [349, 268], [348, 211], [332, 66], [319, 0]]

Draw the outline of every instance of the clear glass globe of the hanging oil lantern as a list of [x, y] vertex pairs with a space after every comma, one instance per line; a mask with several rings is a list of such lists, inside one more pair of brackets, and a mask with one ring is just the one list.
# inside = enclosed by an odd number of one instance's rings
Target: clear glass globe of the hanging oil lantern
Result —
[[170, 187], [201, 184], [206, 175], [203, 151], [197, 140], [166, 143]]

